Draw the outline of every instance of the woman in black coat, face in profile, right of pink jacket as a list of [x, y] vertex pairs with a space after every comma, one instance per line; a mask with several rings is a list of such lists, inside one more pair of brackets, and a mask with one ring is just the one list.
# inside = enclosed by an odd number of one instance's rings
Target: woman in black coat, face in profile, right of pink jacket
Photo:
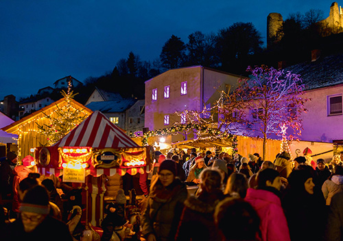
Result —
[[316, 191], [311, 166], [294, 170], [281, 198], [292, 241], [322, 240], [325, 222], [325, 200]]

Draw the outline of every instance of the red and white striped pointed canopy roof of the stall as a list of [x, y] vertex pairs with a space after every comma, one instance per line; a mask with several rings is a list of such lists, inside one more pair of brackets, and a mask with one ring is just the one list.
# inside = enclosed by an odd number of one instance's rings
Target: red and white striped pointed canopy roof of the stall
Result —
[[92, 148], [139, 147], [128, 135], [101, 113], [94, 111], [80, 125], [53, 146], [88, 146]]

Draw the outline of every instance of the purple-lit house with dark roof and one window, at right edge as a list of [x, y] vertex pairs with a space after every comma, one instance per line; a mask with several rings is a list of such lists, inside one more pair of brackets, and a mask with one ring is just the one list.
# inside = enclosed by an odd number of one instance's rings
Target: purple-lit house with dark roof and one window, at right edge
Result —
[[305, 103], [307, 113], [301, 116], [300, 139], [343, 144], [343, 54], [316, 56], [285, 70], [300, 74], [304, 97], [311, 98]]

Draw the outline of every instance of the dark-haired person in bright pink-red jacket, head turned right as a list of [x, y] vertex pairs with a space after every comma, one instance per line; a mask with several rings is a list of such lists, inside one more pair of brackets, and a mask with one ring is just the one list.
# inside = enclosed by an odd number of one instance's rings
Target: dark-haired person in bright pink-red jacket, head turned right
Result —
[[261, 218], [263, 241], [289, 241], [289, 229], [280, 200], [281, 179], [278, 171], [267, 168], [257, 175], [257, 189], [248, 188], [246, 200]]

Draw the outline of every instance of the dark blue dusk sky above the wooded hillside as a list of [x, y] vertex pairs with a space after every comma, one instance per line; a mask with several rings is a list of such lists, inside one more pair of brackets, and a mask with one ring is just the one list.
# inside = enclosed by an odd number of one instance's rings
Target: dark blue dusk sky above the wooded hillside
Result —
[[[265, 42], [267, 16], [329, 16], [328, 0], [1, 0], [0, 100], [36, 94], [56, 80], [84, 82], [112, 71], [130, 51], [141, 60], [158, 58], [172, 34], [187, 43], [189, 34], [218, 32], [251, 22]], [[341, 3], [338, 2], [338, 5]], [[343, 3], [342, 3], [343, 4]]]

